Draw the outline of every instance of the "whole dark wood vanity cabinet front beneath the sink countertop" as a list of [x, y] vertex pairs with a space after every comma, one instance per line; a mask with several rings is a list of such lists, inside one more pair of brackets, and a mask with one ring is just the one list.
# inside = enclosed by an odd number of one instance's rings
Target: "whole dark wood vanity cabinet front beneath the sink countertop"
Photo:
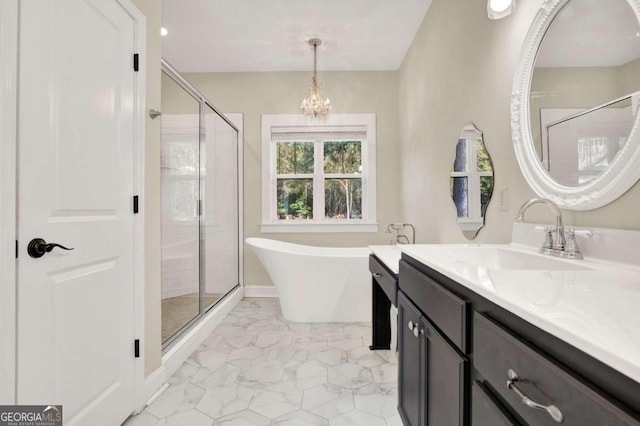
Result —
[[[405, 425], [640, 426], [639, 383], [409, 256], [399, 270]], [[507, 388], [509, 370], [520, 392], [557, 406], [561, 423]]]

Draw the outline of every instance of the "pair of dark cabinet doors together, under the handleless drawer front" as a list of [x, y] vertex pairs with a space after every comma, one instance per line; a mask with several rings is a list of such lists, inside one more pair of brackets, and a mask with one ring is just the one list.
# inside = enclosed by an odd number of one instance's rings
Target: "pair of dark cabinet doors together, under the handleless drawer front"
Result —
[[465, 425], [469, 362], [398, 292], [398, 408], [406, 425]]

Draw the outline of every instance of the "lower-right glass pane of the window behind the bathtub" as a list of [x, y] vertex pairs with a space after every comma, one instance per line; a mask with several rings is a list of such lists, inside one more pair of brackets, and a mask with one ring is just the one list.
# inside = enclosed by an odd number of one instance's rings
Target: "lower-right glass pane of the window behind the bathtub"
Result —
[[362, 179], [325, 179], [327, 219], [362, 219]]

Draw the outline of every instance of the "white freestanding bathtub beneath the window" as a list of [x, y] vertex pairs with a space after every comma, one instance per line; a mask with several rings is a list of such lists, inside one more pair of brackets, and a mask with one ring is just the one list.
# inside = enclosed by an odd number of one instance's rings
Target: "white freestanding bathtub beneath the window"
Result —
[[295, 322], [371, 321], [366, 247], [312, 247], [247, 238], [276, 287], [285, 319]]

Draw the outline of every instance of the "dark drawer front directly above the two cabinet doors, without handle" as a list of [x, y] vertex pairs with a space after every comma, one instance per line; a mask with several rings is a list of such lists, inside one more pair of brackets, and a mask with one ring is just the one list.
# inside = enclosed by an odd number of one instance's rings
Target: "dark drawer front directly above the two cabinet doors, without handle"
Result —
[[463, 353], [468, 353], [469, 303], [400, 261], [398, 286]]

